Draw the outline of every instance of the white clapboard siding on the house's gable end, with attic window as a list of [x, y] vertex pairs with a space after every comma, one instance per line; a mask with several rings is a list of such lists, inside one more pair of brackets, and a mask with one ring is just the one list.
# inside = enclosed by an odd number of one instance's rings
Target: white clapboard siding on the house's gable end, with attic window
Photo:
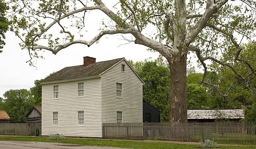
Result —
[[[103, 73], [101, 80], [102, 122], [116, 122], [117, 111], [123, 112], [123, 122], [142, 122], [143, 84], [125, 60]], [[116, 83], [122, 83], [122, 98], [116, 97]]]

